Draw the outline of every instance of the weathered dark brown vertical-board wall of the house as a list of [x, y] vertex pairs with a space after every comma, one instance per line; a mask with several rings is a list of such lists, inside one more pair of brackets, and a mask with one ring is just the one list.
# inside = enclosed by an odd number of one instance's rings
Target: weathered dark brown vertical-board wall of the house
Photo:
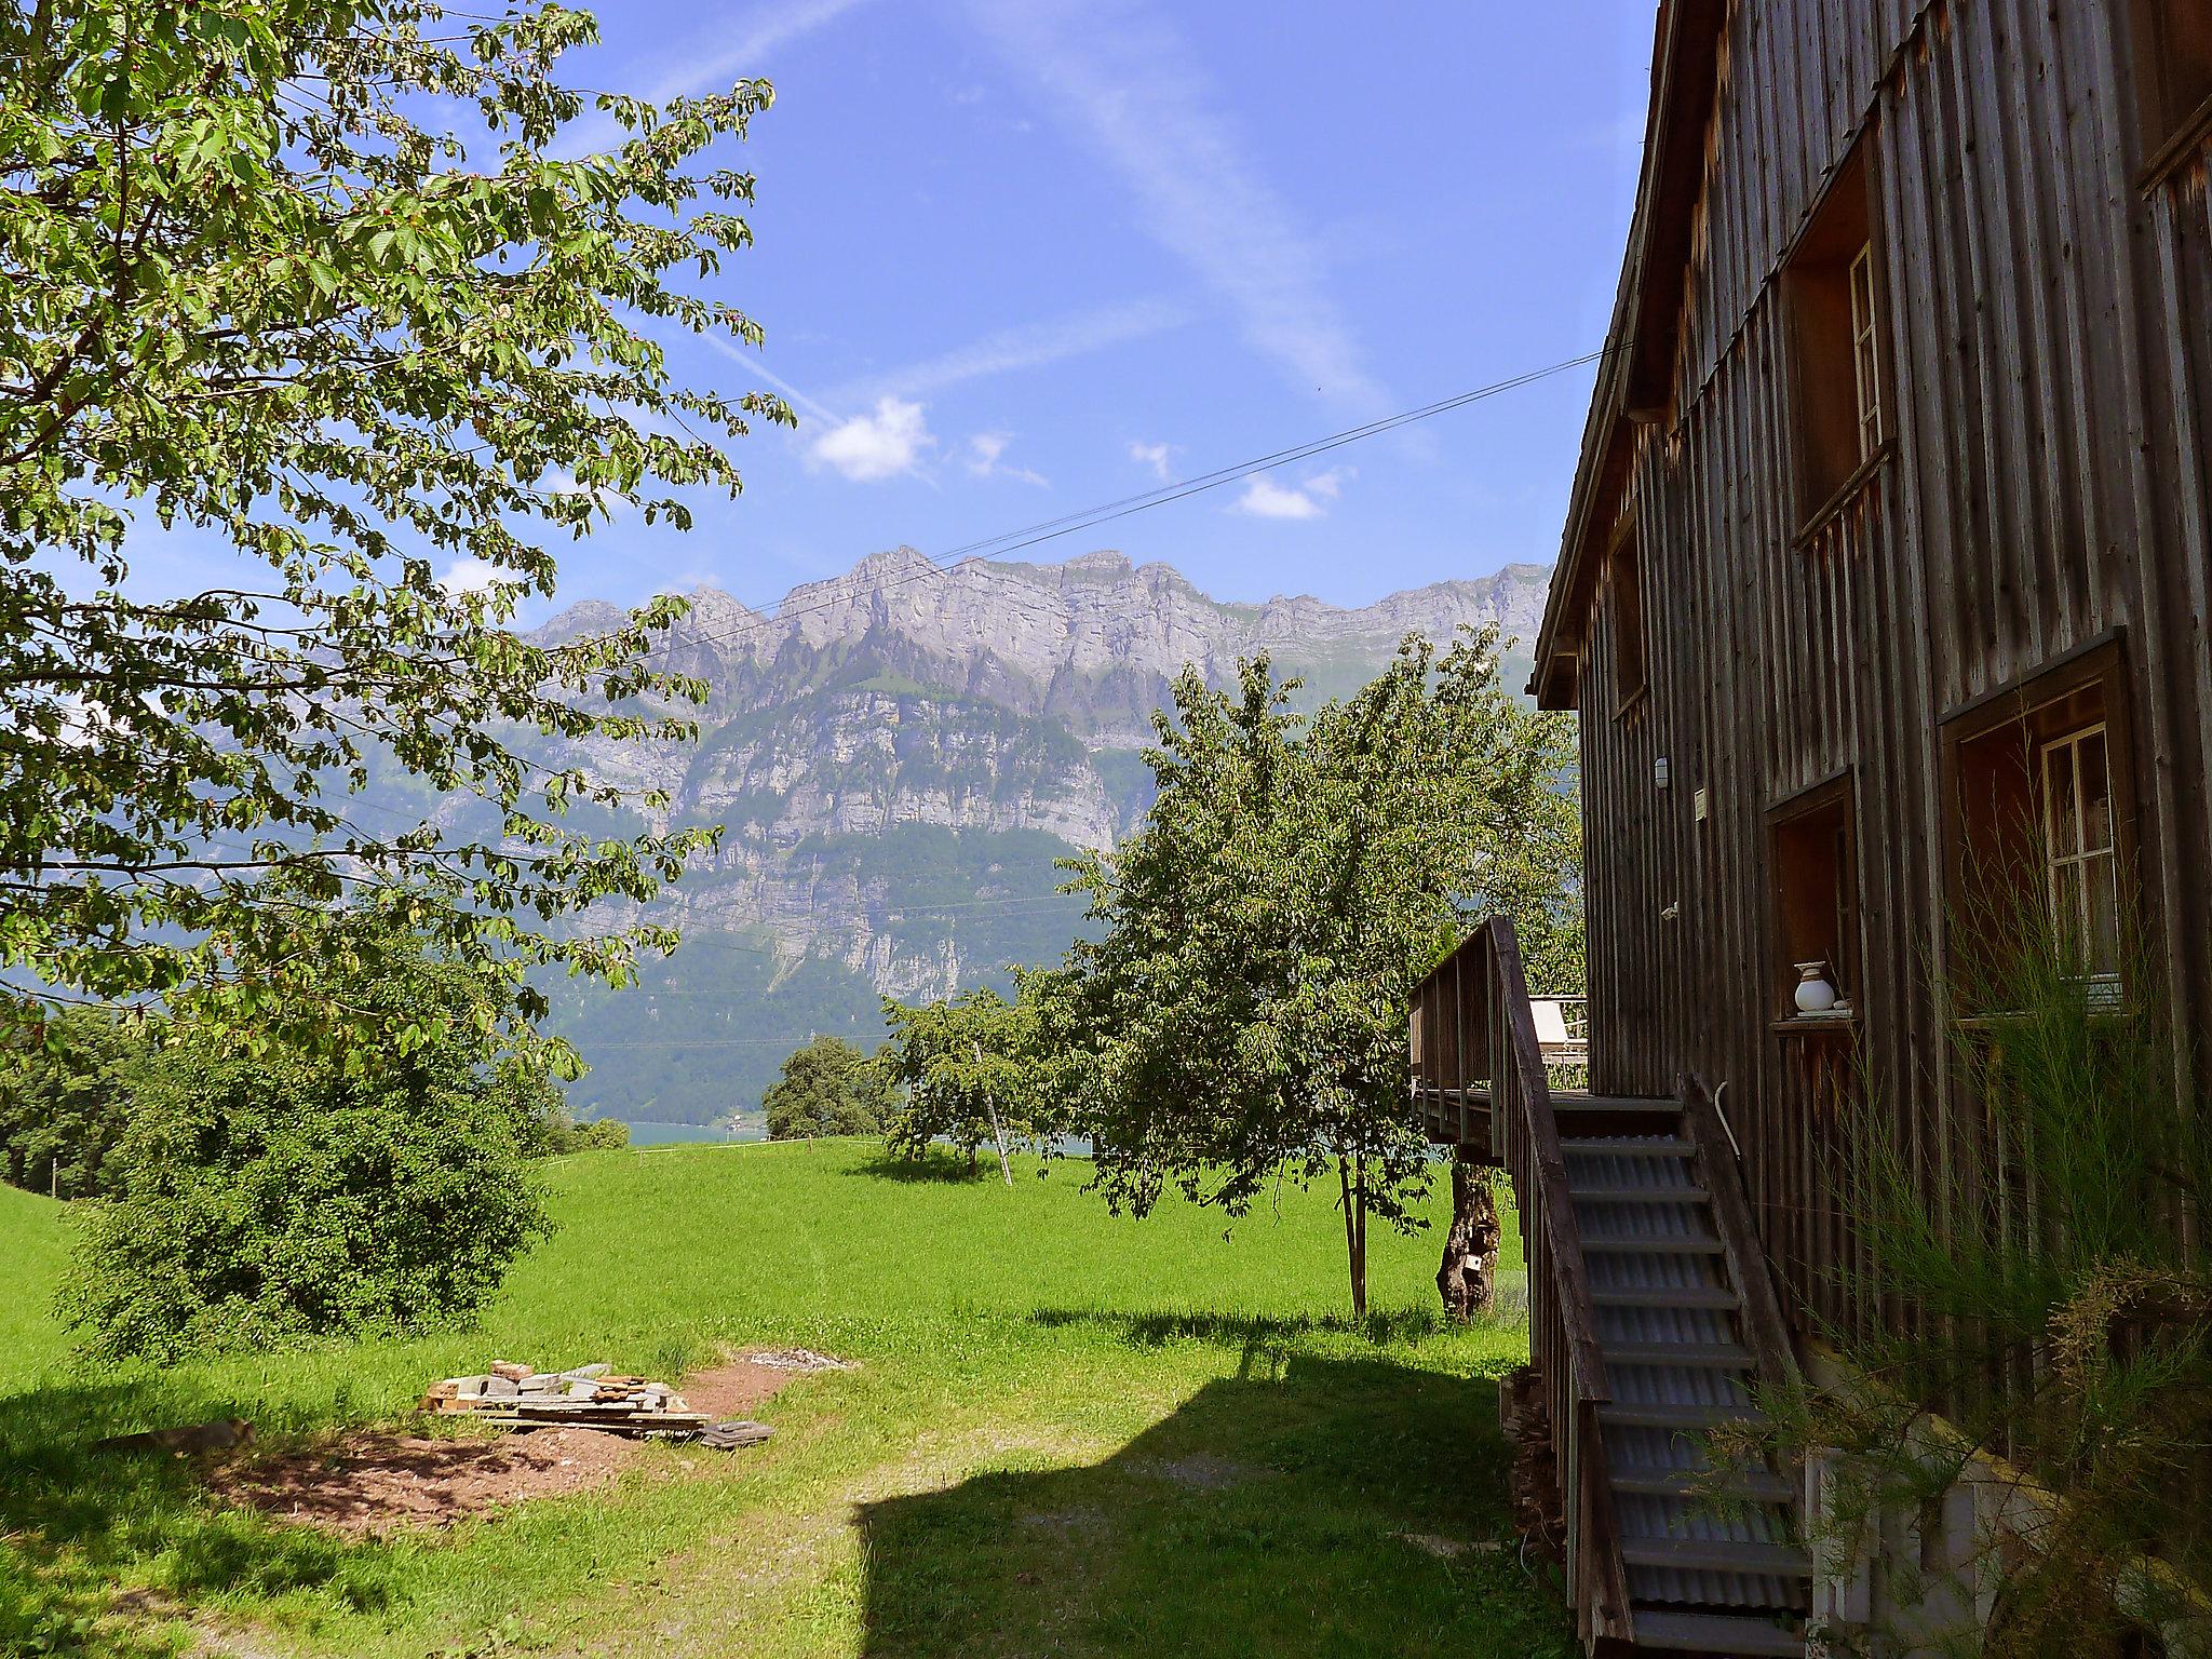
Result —
[[[1796, 546], [1776, 270], [1860, 139], [1891, 456]], [[1871, 1099], [1931, 1172], [1973, 1135], [1931, 971], [1949, 712], [2119, 635], [2137, 898], [2188, 1029], [2212, 1031], [2205, 155], [2143, 184], [2126, 0], [1739, 0], [1690, 248], [1672, 407], [1635, 427], [1582, 549], [1635, 513], [1650, 641], [1650, 692], [1617, 714], [1604, 586], [1577, 619], [1593, 1088], [1725, 1082], [1801, 1314], [1867, 1318], [1825, 1272], [1854, 1248], [1825, 1175], [1836, 1097]], [[1856, 1040], [1770, 1029], [1767, 814], [1838, 774]]]

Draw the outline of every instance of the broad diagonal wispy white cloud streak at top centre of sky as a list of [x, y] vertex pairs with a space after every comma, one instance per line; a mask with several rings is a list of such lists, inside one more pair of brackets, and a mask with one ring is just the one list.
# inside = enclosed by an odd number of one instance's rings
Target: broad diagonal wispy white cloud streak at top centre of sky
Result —
[[1329, 301], [1310, 223], [1279, 197], [1221, 115], [1212, 82], [1148, 0], [969, 0], [993, 46], [1033, 80], [1139, 197], [1139, 223], [1237, 310], [1245, 338], [1301, 389], [1389, 403]]

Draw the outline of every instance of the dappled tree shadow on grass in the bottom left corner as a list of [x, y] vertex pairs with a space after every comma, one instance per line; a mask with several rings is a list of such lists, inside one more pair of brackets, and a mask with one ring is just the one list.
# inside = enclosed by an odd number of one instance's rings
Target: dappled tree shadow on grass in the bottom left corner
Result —
[[170, 1619], [226, 1590], [389, 1604], [376, 1544], [221, 1506], [190, 1458], [93, 1447], [234, 1411], [153, 1374], [0, 1398], [0, 1652], [173, 1655]]

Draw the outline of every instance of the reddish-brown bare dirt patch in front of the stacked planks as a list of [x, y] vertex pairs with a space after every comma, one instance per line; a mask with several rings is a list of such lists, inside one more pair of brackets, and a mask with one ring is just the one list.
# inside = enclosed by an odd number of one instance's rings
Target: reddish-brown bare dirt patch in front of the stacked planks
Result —
[[217, 1464], [208, 1484], [232, 1504], [276, 1520], [374, 1537], [407, 1526], [451, 1526], [531, 1498], [591, 1491], [639, 1451], [635, 1440], [593, 1429], [533, 1429], [484, 1440], [367, 1429], [314, 1451]]

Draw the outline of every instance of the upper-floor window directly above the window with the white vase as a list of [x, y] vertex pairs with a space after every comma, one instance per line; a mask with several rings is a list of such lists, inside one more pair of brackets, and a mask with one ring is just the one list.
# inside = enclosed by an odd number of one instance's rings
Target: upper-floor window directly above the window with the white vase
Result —
[[1814, 215], [1783, 276], [1798, 425], [1798, 520], [1825, 515], [1887, 440], [1880, 250], [1867, 159], [1854, 155]]

